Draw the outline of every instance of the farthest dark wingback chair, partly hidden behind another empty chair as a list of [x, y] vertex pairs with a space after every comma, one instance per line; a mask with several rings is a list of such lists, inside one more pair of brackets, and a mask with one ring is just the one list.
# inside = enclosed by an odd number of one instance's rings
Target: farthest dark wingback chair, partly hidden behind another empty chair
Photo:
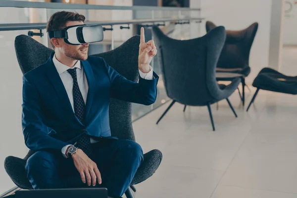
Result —
[[[205, 26], [207, 32], [217, 27], [213, 22], [210, 21], [206, 21]], [[250, 73], [249, 53], [257, 30], [258, 23], [253, 23], [243, 30], [227, 30], [225, 45], [222, 49], [216, 68], [217, 72], [242, 74], [241, 79], [243, 86], [243, 105], [245, 105], [245, 78]], [[237, 77], [238, 75], [234, 75], [234, 77], [228, 77], [220, 80], [229, 81]]]

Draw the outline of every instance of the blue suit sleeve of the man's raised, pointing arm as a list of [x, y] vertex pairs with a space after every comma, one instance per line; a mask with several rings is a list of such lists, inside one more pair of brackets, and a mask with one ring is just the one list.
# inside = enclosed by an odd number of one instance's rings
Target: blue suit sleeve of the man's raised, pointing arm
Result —
[[153, 72], [154, 79], [147, 80], [139, 78], [139, 82], [128, 80], [120, 75], [115, 69], [107, 65], [102, 59], [107, 69], [107, 74], [111, 82], [111, 97], [143, 105], [151, 105], [157, 97], [157, 82], [159, 76]]

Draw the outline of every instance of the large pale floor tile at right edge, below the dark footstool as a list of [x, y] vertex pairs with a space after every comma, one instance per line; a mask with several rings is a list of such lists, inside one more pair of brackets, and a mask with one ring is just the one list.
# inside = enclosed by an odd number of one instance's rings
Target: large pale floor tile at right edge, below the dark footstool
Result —
[[270, 127], [248, 135], [222, 184], [297, 193], [297, 134]]

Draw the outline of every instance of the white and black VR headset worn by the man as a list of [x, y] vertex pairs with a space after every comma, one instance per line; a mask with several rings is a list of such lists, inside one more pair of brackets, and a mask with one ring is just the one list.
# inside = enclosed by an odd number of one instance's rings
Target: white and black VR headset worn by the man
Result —
[[49, 38], [63, 38], [69, 45], [95, 43], [103, 40], [101, 25], [73, 25], [63, 30], [49, 31]]

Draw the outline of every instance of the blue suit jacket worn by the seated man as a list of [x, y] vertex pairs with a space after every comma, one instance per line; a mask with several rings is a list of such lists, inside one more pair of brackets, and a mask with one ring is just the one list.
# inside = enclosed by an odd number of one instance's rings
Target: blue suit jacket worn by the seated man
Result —
[[52, 56], [23, 76], [22, 127], [25, 143], [31, 150], [61, 150], [85, 132], [109, 137], [110, 97], [144, 105], [156, 99], [155, 73], [153, 80], [140, 78], [136, 83], [121, 76], [102, 58], [89, 57], [81, 62], [89, 84], [83, 125], [72, 110]]

